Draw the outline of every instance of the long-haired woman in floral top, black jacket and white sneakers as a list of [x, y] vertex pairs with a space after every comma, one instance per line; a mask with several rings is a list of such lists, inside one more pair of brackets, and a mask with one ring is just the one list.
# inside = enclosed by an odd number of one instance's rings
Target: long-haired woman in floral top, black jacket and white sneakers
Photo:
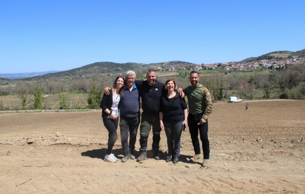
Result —
[[100, 107], [102, 108], [102, 118], [106, 129], [108, 130], [108, 148], [104, 161], [115, 163], [117, 157], [112, 153], [114, 143], [117, 141], [117, 125], [119, 116], [120, 99], [123, 96], [124, 78], [118, 76], [113, 87], [109, 91], [110, 95], [103, 95]]

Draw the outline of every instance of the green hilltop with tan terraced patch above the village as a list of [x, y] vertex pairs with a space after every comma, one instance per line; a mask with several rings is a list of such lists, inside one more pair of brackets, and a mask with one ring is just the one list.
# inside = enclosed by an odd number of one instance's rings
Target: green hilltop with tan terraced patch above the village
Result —
[[253, 62], [253, 61], [258, 61], [258, 60], [270, 60], [272, 58], [277, 58], [277, 59], [286, 59], [286, 58], [293, 58], [293, 57], [305, 57], [305, 49], [292, 52], [292, 51], [274, 51], [271, 53], [267, 53], [258, 57], [249, 57], [246, 58], [239, 63], [247, 63], [247, 62]]

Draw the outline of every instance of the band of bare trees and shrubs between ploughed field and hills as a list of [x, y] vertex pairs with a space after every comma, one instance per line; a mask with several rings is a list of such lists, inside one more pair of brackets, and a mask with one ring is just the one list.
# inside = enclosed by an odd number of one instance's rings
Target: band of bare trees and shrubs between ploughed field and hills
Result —
[[[145, 79], [146, 70], [135, 70], [137, 79]], [[188, 71], [180, 71], [174, 77], [178, 87], [190, 85]], [[18, 95], [22, 109], [26, 109], [28, 95], [34, 95], [34, 109], [42, 109], [42, 94], [59, 94], [59, 109], [68, 109], [66, 93], [87, 93], [86, 108], [99, 109], [99, 103], [106, 86], [112, 86], [117, 75], [87, 76], [78, 79], [59, 79], [53, 81], [27, 82], [18, 81], [15, 86], [0, 87], [1, 96]], [[300, 99], [305, 96], [305, 67], [289, 65], [285, 68], [253, 69], [251, 72], [224, 69], [199, 71], [199, 83], [206, 86], [213, 101], [226, 100], [229, 96], [237, 96], [248, 100], [285, 98]], [[157, 78], [165, 82], [167, 77]], [[0, 103], [3, 103], [0, 101]], [[1, 109], [1, 107], [0, 107]]]

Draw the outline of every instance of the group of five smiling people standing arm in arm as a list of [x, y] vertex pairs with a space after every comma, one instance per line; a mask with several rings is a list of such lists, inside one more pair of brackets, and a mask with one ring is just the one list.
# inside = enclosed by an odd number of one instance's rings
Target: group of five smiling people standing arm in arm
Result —
[[[177, 163], [180, 157], [181, 133], [188, 125], [195, 155], [190, 159], [201, 159], [198, 131], [203, 147], [203, 167], [208, 167], [210, 143], [207, 136], [207, 119], [212, 110], [212, 99], [208, 89], [199, 84], [199, 73], [190, 73], [191, 86], [178, 89], [174, 79], [167, 79], [165, 84], [156, 80], [156, 72], [149, 69], [147, 80], [136, 79], [134, 71], [127, 71], [126, 77], [118, 76], [110, 89], [106, 87], [101, 101], [102, 119], [109, 132], [108, 148], [104, 160], [117, 162], [112, 148], [117, 140], [118, 116], [120, 114], [120, 136], [124, 150], [122, 162], [135, 159], [134, 150], [138, 125], [140, 125], [140, 154], [137, 161], [147, 159], [147, 143], [152, 129], [153, 157], [159, 160], [160, 132], [167, 136], [167, 162]], [[184, 95], [188, 97], [189, 111]], [[140, 97], [142, 114], [140, 114]], [[141, 117], [141, 119], [140, 119]], [[141, 120], [141, 121], [140, 121]], [[129, 137], [129, 143], [128, 143]]]

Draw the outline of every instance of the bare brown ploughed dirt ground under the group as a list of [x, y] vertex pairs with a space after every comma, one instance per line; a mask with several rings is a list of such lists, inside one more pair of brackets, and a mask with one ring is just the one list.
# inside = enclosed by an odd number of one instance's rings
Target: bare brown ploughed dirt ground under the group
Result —
[[111, 164], [101, 112], [0, 114], [0, 193], [304, 193], [304, 110], [301, 100], [213, 104], [208, 169], [188, 160], [188, 128], [178, 164], [165, 162], [164, 131], [160, 160], [150, 134], [148, 160]]

